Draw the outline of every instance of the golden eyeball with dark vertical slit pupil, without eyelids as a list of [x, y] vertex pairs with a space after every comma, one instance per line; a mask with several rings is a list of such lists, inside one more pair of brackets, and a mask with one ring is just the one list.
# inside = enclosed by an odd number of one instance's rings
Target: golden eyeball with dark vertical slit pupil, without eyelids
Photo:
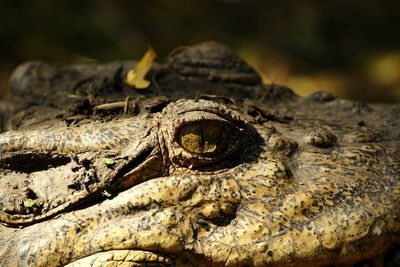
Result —
[[210, 154], [219, 148], [222, 135], [219, 125], [201, 122], [184, 126], [179, 132], [179, 141], [191, 153]]

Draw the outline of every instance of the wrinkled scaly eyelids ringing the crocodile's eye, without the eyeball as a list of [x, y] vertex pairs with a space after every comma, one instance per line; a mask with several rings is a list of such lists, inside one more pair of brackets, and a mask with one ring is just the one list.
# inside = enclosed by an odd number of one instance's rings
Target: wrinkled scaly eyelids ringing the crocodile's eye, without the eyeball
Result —
[[[223, 159], [240, 153], [244, 148], [244, 138], [247, 136], [243, 132], [247, 131], [247, 125], [234, 110], [210, 102], [210, 101], [177, 101], [174, 105], [168, 106], [163, 110], [160, 117], [160, 143], [165, 142], [168, 159], [175, 166], [188, 169], [203, 170], [221, 168], [229, 165], [234, 160], [222, 162]], [[183, 127], [191, 124], [214, 124], [219, 127], [221, 141], [218, 142], [218, 149], [211, 152], [198, 152], [190, 146], [182, 146], [179, 134]], [[202, 126], [208, 129], [208, 126]], [[212, 127], [212, 126], [210, 126]], [[197, 142], [194, 137], [194, 142]], [[194, 144], [193, 148], [201, 147]], [[203, 150], [204, 151], [204, 150]], [[236, 158], [239, 158], [239, 154]]]

